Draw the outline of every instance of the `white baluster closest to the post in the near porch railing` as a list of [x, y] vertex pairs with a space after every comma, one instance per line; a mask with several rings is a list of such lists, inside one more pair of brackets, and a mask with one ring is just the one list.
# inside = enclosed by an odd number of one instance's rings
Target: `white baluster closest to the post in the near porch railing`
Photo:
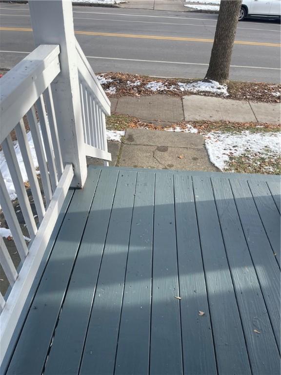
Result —
[[60, 177], [63, 172], [63, 164], [62, 164], [62, 158], [61, 158], [61, 152], [60, 152], [60, 141], [59, 141], [59, 134], [58, 134], [58, 126], [57, 126], [57, 120], [56, 120], [56, 113], [54, 108], [54, 102], [53, 102], [53, 94], [51, 90], [51, 86], [48, 86], [48, 88], [44, 92], [44, 98], [45, 103], [47, 107], [47, 113], [48, 113], [48, 121], [49, 121], [49, 127], [51, 131], [51, 137], [52, 137], [52, 143], [53, 143], [53, 149], [55, 154], [55, 162], [58, 172], [58, 178], [60, 180]]

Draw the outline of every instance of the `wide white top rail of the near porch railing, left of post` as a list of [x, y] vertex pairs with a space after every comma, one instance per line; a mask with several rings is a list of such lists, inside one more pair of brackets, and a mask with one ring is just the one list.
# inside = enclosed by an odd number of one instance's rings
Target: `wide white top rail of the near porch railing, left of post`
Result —
[[60, 72], [59, 45], [42, 44], [1, 78], [0, 143]]

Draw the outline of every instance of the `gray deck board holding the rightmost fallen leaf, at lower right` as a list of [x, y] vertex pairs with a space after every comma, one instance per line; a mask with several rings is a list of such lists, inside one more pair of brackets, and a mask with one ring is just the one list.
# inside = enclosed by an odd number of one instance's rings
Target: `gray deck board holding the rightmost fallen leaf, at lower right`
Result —
[[[260, 284], [241, 227], [229, 181], [212, 179], [241, 322], [254, 374], [273, 375], [280, 369], [279, 352], [266, 312]], [[255, 333], [254, 330], [260, 333]]]

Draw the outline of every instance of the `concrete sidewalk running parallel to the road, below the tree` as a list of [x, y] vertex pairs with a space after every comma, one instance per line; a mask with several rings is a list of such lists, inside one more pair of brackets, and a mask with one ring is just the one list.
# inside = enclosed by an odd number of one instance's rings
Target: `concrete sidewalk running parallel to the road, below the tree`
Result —
[[183, 98], [156, 94], [111, 98], [112, 113], [127, 114], [160, 125], [181, 121], [233, 121], [279, 124], [280, 103], [256, 103], [201, 95]]

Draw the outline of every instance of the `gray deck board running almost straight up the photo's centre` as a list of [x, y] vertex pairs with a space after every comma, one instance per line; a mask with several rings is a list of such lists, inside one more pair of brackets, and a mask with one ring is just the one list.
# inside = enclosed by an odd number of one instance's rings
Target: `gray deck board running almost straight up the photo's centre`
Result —
[[[172, 174], [156, 174], [150, 374], [182, 374], [181, 316], [174, 184]], [[160, 350], [161, 348], [161, 350]]]

